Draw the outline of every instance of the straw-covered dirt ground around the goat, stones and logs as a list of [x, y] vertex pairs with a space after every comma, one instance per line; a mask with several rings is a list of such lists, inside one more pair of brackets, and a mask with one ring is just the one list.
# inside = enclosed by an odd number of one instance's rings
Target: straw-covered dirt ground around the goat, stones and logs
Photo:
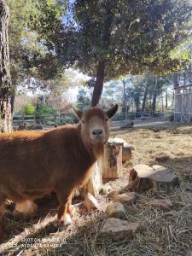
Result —
[[[192, 126], [167, 122], [136, 125], [134, 129], [113, 131], [112, 136], [130, 143], [133, 154], [131, 162], [125, 163], [125, 176], [112, 182], [113, 188], [126, 185], [126, 174], [136, 164], [166, 166], [181, 181], [180, 188], [169, 195], [148, 191], [125, 206], [126, 219], [143, 224], [145, 229], [131, 241], [103, 239], [99, 232], [107, 216], [92, 212], [76, 215], [67, 230], [58, 231], [52, 217], [57, 203], [52, 196], [38, 202], [38, 216], [32, 219], [9, 216], [9, 239], [0, 245], [0, 255], [192, 255]], [[172, 211], [151, 207], [148, 201], [157, 197], [171, 199]]]

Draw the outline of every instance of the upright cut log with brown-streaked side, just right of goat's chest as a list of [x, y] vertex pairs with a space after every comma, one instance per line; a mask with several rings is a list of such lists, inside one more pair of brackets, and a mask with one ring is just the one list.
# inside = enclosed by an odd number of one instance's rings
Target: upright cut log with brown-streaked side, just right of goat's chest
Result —
[[123, 175], [122, 145], [107, 143], [102, 161], [102, 177], [118, 178]]

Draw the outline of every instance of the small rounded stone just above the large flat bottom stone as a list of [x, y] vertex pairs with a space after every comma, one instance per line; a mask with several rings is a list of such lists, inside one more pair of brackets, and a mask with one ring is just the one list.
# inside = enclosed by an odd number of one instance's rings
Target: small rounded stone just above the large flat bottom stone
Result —
[[125, 207], [120, 202], [112, 202], [106, 209], [109, 217], [125, 218]]

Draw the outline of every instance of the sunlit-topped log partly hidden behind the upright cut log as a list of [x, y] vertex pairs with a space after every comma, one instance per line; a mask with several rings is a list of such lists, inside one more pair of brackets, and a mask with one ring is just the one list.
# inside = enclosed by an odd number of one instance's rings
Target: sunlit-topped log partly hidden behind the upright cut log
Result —
[[132, 154], [131, 154], [131, 146], [125, 142], [120, 137], [113, 137], [108, 140], [108, 143], [112, 143], [116, 146], [122, 146], [122, 162], [125, 163], [128, 160], [131, 160]]

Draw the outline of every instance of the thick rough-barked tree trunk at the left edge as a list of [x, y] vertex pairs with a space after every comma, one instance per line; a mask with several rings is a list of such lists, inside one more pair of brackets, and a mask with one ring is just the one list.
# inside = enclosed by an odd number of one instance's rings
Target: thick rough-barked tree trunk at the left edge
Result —
[[8, 24], [9, 8], [0, 0], [0, 132], [12, 131]]

